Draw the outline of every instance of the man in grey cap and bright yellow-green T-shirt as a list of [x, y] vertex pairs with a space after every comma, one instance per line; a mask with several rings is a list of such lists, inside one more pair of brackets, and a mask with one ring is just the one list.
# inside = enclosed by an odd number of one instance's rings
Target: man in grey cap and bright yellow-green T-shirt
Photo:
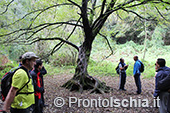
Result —
[[33, 52], [22, 55], [22, 66], [12, 76], [11, 88], [3, 105], [4, 111], [30, 113], [30, 107], [35, 103], [35, 99], [29, 70], [34, 67], [36, 58], [38, 57]]

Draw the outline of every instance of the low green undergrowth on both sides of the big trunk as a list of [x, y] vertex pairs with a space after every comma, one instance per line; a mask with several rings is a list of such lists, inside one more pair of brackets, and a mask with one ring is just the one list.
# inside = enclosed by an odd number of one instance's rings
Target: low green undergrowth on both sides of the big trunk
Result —
[[[98, 40], [100, 41], [100, 40]], [[98, 41], [94, 42], [99, 43]], [[116, 73], [116, 66], [119, 63], [120, 58], [125, 59], [125, 63], [129, 65], [126, 70], [127, 76], [133, 76], [134, 55], [138, 55], [139, 59], [145, 65], [145, 71], [142, 76], [145, 78], [151, 78], [155, 76], [155, 62], [157, 58], [166, 59], [166, 65], [170, 66], [169, 49], [170, 46], [152, 46], [147, 48], [145, 57], [143, 45], [137, 45], [132, 41], [126, 44], [118, 45], [112, 43], [113, 54], [106, 58], [110, 54], [109, 49], [105, 46], [105, 43], [99, 43], [100, 46], [93, 47], [90, 61], [88, 64], [88, 72], [91, 76], [119, 76]], [[72, 57], [73, 56], [73, 57]], [[76, 67], [76, 52], [61, 52], [51, 57], [51, 62], [44, 63], [47, 75], [59, 75], [59, 74], [74, 74]], [[143, 59], [144, 58], [144, 59]], [[10, 62], [0, 70], [0, 77], [8, 72], [13, 67], [17, 67], [16, 62]]]

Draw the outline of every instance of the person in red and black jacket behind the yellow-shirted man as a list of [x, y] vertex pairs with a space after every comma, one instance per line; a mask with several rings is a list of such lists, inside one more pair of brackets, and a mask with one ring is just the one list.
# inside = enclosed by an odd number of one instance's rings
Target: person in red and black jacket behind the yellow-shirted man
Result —
[[42, 93], [44, 92], [43, 80], [42, 80], [42, 61], [41, 59], [36, 60], [36, 65], [34, 70], [31, 71], [31, 76], [33, 79], [34, 90], [35, 90], [35, 104], [33, 105], [33, 113], [42, 113], [43, 112], [43, 101]]

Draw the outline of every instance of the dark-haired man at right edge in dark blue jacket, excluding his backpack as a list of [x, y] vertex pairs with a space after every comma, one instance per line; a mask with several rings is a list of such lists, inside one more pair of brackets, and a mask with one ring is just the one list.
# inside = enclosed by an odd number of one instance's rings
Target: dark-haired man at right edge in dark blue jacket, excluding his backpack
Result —
[[168, 90], [161, 90], [158, 87], [158, 82], [163, 80], [168, 76], [168, 73], [170, 72], [170, 68], [165, 66], [166, 61], [165, 59], [158, 58], [156, 63], [155, 63], [155, 70], [157, 72], [155, 76], [155, 90], [154, 90], [154, 97], [159, 96], [159, 112], [160, 113], [168, 113], [167, 111], [167, 103], [168, 103], [168, 98], [169, 98], [169, 93]]

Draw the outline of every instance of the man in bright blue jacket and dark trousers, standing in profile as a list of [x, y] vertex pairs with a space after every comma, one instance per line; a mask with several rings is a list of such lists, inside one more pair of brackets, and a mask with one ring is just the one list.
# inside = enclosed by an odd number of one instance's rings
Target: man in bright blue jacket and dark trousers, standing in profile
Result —
[[140, 70], [141, 70], [141, 66], [143, 63], [138, 59], [138, 56], [134, 56], [133, 59], [135, 61], [135, 64], [133, 67], [133, 76], [134, 76], [136, 87], [137, 87], [136, 93], [141, 94], [142, 90], [141, 90], [141, 80], [140, 80], [141, 71]]

